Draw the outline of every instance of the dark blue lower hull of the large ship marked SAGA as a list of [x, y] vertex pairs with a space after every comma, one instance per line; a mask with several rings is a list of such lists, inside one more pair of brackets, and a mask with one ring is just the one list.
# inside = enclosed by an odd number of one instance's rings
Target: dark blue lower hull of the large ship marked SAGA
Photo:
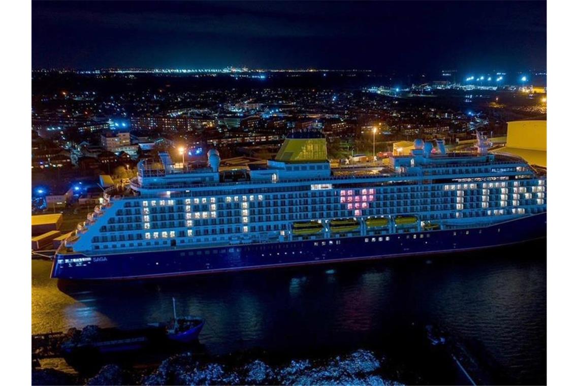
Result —
[[499, 247], [547, 236], [547, 213], [494, 225], [271, 244], [56, 255], [52, 277], [109, 280], [168, 277]]

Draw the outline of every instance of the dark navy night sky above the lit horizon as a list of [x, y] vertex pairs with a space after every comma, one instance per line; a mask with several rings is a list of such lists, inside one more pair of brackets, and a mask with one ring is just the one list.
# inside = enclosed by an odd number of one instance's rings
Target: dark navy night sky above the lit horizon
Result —
[[545, 69], [547, 3], [32, 2], [33, 68]]

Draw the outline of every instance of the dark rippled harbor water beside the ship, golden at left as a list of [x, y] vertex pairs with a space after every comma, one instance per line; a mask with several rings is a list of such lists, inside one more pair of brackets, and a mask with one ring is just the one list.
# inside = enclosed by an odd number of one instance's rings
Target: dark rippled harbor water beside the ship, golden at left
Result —
[[32, 261], [32, 333], [165, 321], [175, 297], [179, 314], [207, 320], [200, 343], [211, 354], [254, 348], [298, 356], [358, 348], [412, 352], [401, 332], [433, 324], [492, 363], [503, 379], [547, 381], [545, 241], [153, 281], [58, 282], [49, 278], [50, 266]]

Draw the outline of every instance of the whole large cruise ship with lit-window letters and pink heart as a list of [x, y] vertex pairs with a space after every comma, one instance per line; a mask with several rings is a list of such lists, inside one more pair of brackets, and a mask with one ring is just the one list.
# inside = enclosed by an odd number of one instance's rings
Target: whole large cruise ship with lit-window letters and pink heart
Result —
[[141, 160], [127, 189], [58, 248], [52, 277], [108, 280], [498, 247], [547, 233], [547, 177], [524, 160], [417, 139], [411, 154], [331, 167], [323, 135], [292, 133], [247, 170]]

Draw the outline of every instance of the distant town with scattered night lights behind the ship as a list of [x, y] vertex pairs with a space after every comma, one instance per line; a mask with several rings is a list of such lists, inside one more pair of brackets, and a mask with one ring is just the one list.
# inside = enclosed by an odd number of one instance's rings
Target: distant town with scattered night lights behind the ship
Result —
[[217, 148], [223, 165], [243, 167], [272, 159], [288, 133], [312, 128], [327, 138], [335, 163], [387, 157], [416, 138], [444, 139], [460, 149], [485, 131], [504, 143], [508, 121], [546, 119], [545, 77], [536, 71], [36, 70], [32, 213], [63, 212], [72, 227], [98, 204], [104, 185], [128, 183], [137, 162], [160, 151], [189, 162]]

